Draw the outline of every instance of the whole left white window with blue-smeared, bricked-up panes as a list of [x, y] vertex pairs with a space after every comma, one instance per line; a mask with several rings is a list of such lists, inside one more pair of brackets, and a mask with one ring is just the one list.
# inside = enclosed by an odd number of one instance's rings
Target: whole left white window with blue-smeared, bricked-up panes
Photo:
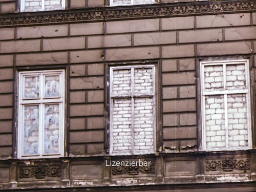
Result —
[[19, 72], [18, 158], [64, 155], [64, 70]]

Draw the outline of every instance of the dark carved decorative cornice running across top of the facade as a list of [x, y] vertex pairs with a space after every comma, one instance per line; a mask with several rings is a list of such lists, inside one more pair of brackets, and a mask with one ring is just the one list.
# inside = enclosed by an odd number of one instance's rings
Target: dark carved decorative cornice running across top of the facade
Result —
[[172, 17], [179, 15], [200, 15], [210, 13], [231, 13], [255, 11], [256, 1], [204, 1], [147, 6], [123, 6], [108, 8], [87, 8], [32, 13], [0, 15], [0, 27], [35, 24], [63, 24], [79, 22], [102, 22], [119, 19]]

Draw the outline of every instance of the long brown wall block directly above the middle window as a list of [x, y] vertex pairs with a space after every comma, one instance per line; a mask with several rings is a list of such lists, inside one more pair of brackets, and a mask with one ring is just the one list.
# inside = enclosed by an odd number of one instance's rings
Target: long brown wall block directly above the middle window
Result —
[[158, 47], [147, 48], [126, 48], [126, 49], [107, 49], [106, 60], [138, 60], [138, 59], [155, 59], [160, 57]]

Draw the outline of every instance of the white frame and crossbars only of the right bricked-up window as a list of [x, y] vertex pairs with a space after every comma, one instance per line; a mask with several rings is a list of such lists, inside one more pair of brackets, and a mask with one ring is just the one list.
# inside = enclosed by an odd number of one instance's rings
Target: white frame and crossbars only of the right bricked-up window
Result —
[[[245, 65], [245, 81], [246, 88], [245, 90], [225, 90], [226, 87], [226, 65]], [[204, 91], [204, 66], [223, 66], [223, 87], [224, 91]], [[223, 95], [224, 96], [224, 114], [225, 114], [225, 136], [226, 136], [226, 146], [225, 147], [215, 147], [214, 151], [236, 151], [236, 150], [248, 150], [252, 148], [252, 130], [251, 130], [251, 106], [250, 106], [250, 74], [249, 74], [249, 60], [221, 60], [221, 61], [201, 61], [201, 115], [202, 115], [202, 150], [203, 151], [212, 151], [212, 148], [206, 148], [206, 130], [205, 130], [205, 96], [208, 95]], [[246, 94], [246, 106], [247, 106], [247, 131], [248, 131], [248, 146], [245, 147], [228, 147], [228, 112], [227, 112], [227, 94]]]

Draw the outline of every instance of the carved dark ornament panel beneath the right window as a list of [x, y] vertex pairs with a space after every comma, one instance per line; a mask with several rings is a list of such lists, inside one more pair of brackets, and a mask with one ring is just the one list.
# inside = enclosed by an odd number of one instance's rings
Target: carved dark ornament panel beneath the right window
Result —
[[232, 172], [233, 170], [249, 170], [249, 159], [222, 159], [206, 161], [206, 171]]

